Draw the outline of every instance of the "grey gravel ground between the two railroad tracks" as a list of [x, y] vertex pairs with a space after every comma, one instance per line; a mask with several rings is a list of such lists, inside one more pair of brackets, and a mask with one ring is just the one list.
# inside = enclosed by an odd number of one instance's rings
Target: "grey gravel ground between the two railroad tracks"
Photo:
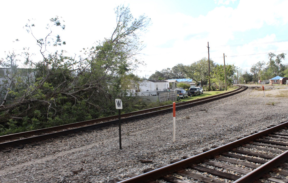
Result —
[[129, 173], [139, 174], [288, 120], [287, 86], [265, 86], [268, 105], [263, 91], [252, 88], [176, 111], [175, 143], [171, 113], [122, 124], [122, 150], [115, 126], [0, 152], [0, 182], [124, 180]]

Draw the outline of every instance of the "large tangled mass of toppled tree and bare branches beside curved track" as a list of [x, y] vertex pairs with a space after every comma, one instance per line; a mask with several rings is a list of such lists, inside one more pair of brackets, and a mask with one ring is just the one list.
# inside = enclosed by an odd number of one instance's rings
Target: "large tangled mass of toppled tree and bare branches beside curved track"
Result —
[[131, 73], [141, 64], [136, 58], [143, 48], [139, 35], [150, 23], [145, 15], [133, 18], [128, 7], [116, 7], [115, 14], [116, 26], [111, 37], [83, 49], [79, 57], [53, 49], [66, 44], [60, 35], [52, 33], [58, 27], [65, 29], [60, 18], [50, 19], [49, 32], [43, 38], [35, 36], [35, 24], [26, 24], [43, 60], [35, 63], [26, 54], [26, 63], [34, 68], [34, 81], [17, 81], [25, 87], [9, 92], [14, 98], [1, 105], [0, 125], [29, 130], [115, 114], [115, 97], [125, 100], [126, 88], [132, 80], [139, 79]]

